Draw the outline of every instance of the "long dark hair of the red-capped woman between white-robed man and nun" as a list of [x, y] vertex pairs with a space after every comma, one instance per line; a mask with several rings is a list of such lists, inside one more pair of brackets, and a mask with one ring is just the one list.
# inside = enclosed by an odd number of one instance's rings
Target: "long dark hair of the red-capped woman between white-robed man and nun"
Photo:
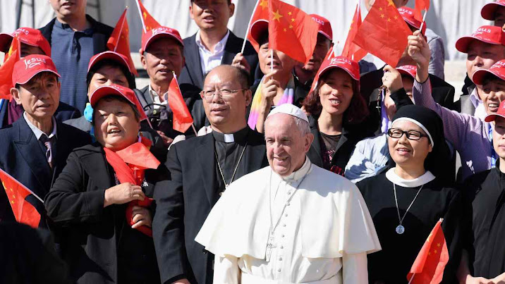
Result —
[[[314, 118], [319, 118], [322, 111], [321, 99], [320, 99], [320, 89], [327, 80], [329, 73], [333, 70], [329, 70], [319, 78], [317, 81], [317, 87], [308, 94], [303, 100], [303, 106], [305, 106], [305, 111], [308, 111], [310, 115]], [[353, 97], [351, 98], [351, 104], [349, 104], [346, 111], [343, 112], [343, 124], [358, 124], [365, 120], [368, 116], [368, 108], [365, 99], [360, 94], [360, 81], [352, 80], [353, 84]]]

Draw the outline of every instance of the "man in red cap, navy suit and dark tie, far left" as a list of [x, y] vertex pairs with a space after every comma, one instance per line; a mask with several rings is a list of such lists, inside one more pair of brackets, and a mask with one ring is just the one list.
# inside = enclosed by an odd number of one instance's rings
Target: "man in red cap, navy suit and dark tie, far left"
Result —
[[[0, 130], [0, 168], [44, 199], [66, 158], [76, 148], [90, 143], [90, 136], [59, 123], [59, 73], [49, 56], [30, 55], [18, 61], [12, 75], [11, 95], [23, 105], [23, 118]], [[41, 216], [44, 206], [28, 197]], [[5, 191], [0, 190], [0, 219], [13, 221]], [[42, 221], [40, 226], [46, 226]]]

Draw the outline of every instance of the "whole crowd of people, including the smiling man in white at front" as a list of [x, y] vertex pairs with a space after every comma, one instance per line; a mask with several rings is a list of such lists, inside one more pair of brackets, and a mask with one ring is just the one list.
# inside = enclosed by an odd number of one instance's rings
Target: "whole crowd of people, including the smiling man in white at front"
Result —
[[[505, 282], [504, 0], [482, 8], [493, 26], [456, 42], [458, 100], [444, 81], [454, 47], [409, 0], [389, 1], [412, 34], [379, 69], [328, 56], [323, 16], [310, 15], [317, 42], [300, 63], [269, 48], [265, 21], [243, 47], [233, 1], [191, 0], [195, 35], [142, 33], [142, 89], [87, 1], [49, 2], [46, 26], [0, 34], [6, 54], [20, 42], [0, 168], [41, 217], [16, 222], [0, 186], [0, 283]], [[425, 255], [445, 255], [437, 280], [410, 276], [441, 220], [443, 245]]]

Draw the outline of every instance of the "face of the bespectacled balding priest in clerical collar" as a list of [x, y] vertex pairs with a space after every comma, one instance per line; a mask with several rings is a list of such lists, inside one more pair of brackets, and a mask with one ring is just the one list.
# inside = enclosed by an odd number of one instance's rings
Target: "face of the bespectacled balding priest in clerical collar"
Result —
[[[205, 114], [212, 126], [219, 129], [233, 129], [233, 125], [245, 122], [245, 111], [251, 101], [251, 91], [243, 89], [236, 68], [218, 66], [210, 71], [203, 85], [203, 91], [214, 91], [214, 96], [204, 97]], [[230, 94], [222, 92], [233, 91]]]

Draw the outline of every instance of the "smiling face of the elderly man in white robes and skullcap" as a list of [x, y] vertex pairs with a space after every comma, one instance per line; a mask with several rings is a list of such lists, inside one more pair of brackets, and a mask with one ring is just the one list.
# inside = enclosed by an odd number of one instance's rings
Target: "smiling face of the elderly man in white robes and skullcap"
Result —
[[265, 121], [264, 139], [270, 167], [277, 174], [288, 176], [303, 166], [314, 135], [302, 135], [293, 116], [276, 113]]

